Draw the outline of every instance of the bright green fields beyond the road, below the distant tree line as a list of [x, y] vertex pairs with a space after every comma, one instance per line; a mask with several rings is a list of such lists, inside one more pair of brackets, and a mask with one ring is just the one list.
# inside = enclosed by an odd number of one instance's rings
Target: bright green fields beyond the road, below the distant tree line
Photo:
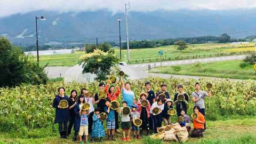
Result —
[[[190, 44], [188, 49], [179, 51], [174, 45], [161, 46], [149, 49], [132, 49], [130, 52], [130, 63], [145, 63], [145, 62], [155, 62], [160, 61], [160, 56], [158, 51], [164, 51], [162, 59], [164, 60], [175, 60], [175, 59], [193, 59], [200, 57], [215, 57], [220, 55], [233, 54], [243, 54], [244, 51], [252, 51], [253, 43], [250, 44], [217, 44], [217, 43], [207, 43], [207, 44]], [[166, 58], [165, 58], [166, 51]], [[241, 52], [241, 53], [240, 53]], [[41, 66], [75, 66], [78, 63], [79, 56], [83, 55], [84, 52], [77, 52], [74, 54], [55, 54], [55, 55], [39, 55], [39, 64]], [[115, 49], [115, 54], [119, 58], [119, 49]], [[126, 57], [124, 57], [126, 55]], [[122, 50], [122, 61], [127, 61], [127, 50]], [[36, 61], [36, 55], [33, 56]]]

